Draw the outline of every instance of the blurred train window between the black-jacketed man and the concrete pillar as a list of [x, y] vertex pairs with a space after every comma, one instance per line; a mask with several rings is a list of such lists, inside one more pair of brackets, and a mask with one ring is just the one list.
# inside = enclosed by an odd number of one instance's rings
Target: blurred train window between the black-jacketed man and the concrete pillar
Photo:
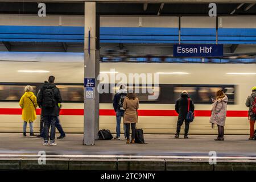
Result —
[[57, 85], [60, 89], [60, 94], [64, 102], [67, 101], [84, 101], [84, 86], [83, 85]]

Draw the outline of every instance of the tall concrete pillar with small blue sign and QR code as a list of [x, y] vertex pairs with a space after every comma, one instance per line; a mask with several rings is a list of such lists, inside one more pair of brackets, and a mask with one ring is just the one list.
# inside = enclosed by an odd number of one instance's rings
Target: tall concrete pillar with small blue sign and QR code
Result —
[[[85, 2], [84, 37], [84, 140], [85, 145], [94, 145], [98, 130], [97, 76], [100, 71], [99, 53], [96, 50], [96, 2]], [[90, 33], [89, 33], [90, 31]]]

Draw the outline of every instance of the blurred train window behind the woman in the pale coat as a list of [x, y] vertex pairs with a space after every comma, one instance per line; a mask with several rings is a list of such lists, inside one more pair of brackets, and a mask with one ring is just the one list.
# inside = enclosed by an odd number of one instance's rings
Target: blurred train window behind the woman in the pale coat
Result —
[[216, 97], [216, 92], [218, 90], [224, 90], [225, 94], [229, 98], [229, 104], [234, 104], [234, 85], [193, 85], [193, 86], [175, 86], [174, 87], [174, 98], [180, 97], [183, 90], [187, 90], [189, 97], [192, 98], [195, 104], [211, 104], [212, 98]]

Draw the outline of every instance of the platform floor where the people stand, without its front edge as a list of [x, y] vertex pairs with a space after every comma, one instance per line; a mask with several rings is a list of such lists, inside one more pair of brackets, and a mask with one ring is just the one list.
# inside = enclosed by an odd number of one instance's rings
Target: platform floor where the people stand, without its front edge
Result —
[[[58, 134], [56, 134], [57, 137]], [[82, 145], [82, 134], [67, 134], [56, 140], [57, 146], [43, 146], [43, 139], [22, 137], [20, 133], [0, 134], [0, 154], [48, 155], [145, 155], [145, 156], [208, 156], [216, 151], [218, 156], [250, 156], [256, 158], [256, 141], [246, 135], [226, 135], [224, 141], [215, 141], [217, 135], [145, 134], [146, 144], [126, 144], [126, 140], [96, 140], [94, 146]]]

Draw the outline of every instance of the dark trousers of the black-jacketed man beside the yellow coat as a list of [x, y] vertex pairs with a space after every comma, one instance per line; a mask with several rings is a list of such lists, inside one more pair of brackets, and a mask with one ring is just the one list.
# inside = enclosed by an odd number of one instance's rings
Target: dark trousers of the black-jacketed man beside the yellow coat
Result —
[[48, 142], [49, 140], [49, 127], [51, 127], [50, 131], [50, 140], [51, 142], [55, 142], [55, 125], [56, 125], [57, 117], [53, 115], [44, 115], [44, 141]]

